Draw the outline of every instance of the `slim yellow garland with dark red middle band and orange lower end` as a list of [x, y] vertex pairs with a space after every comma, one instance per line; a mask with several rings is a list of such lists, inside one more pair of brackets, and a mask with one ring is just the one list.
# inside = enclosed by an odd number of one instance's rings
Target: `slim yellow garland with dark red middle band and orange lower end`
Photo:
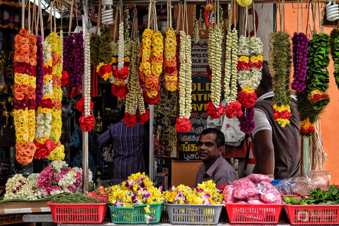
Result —
[[176, 59], [176, 46], [177, 40], [175, 31], [173, 28], [167, 28], [165, 33], [165, 46], [164, 46], [164, 83], [168, 91], [174, 92], [178, 86], [178, 70], [177, 70], [177, 59]]

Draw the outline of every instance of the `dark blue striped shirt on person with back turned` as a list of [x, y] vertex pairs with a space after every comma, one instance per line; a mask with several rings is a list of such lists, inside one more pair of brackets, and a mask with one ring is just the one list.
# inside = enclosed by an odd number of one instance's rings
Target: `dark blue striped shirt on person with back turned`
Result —
[[98, 137], [100, 145], [113, 144], [113, 179], [126, 180], [131, 174], [145, 172], [144, 148], [148, 145], [145, 126], [127, 127], [123, 120]]

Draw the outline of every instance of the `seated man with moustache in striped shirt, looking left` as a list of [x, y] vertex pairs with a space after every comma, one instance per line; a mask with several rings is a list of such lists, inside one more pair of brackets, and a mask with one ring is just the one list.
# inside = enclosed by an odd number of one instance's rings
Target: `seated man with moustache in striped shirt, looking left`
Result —
[[222, 155], [224, 143], [225, 136], [220, 130], [208, 128], [202, 131], [198, 142], [198, 155], [203, 163], [199, 166], [195, 187], [208, 180], [213, 180], [219, 187], [238, 179], [234, 168]]

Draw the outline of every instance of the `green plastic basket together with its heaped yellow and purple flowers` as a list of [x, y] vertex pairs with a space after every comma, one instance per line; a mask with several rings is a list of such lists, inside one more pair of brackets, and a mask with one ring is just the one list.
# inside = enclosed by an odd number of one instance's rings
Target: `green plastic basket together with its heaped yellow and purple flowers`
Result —
[[110, 187], [108, 207], [112, 222], [159, 222], [164, 203], [161, 189], [154, 187], [145, 173], [132, 174], [121, 185]]

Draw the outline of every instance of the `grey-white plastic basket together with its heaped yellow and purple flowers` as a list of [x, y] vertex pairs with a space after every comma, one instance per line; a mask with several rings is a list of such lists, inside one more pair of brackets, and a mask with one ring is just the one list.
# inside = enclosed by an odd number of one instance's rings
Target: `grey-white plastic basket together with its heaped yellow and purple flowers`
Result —
[[169, 222], [184, 224], [216, 224], [223, 204], [222, 190], [212, 180], [191, 189], [180, 184], [164, 194]]

